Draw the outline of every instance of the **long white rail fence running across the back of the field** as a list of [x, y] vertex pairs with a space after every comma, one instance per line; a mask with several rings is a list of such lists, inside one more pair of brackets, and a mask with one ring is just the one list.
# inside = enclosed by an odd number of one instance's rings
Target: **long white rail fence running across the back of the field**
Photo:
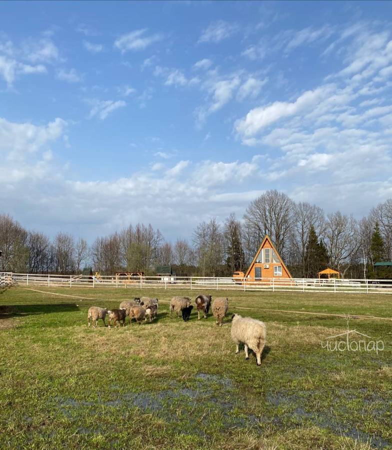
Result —
[[102, 275], [99, 279], [88, 275], [51, 275], [35, 273], [0, 272], [0, 279], [5, 283], [25, 286], [68, 286], [68, 287], [118, 287], [118, 288], [187, 288], [200, 290], [272, 290], [302, 292], [379, 292], [392, 293], [390, 279], [318, 279], [318, 278], [248, 278], [177, 276], [168, 281], [160, 276], [110, 276]]

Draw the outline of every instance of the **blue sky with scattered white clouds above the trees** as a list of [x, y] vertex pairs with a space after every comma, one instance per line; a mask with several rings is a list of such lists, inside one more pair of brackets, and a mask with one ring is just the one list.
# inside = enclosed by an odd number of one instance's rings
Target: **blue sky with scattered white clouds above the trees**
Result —
[[168, 240], [278, 189], [392, 197], [388, 1], [0, 2], [0, 212]]

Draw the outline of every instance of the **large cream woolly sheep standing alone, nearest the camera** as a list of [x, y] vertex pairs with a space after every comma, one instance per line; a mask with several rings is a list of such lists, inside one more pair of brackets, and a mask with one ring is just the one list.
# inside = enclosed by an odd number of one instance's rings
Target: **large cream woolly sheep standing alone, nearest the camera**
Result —
[[257, 365], [261, 365], [261, 353], [265, 345], [265, 323], [250, 317], [233, 314], [231, 321], [231, 339], [236, 344], [235, 354], [238, 354], [240, 343], [245, 347], [245, 359], [249, 359], [248, 347], [256, 353]]

